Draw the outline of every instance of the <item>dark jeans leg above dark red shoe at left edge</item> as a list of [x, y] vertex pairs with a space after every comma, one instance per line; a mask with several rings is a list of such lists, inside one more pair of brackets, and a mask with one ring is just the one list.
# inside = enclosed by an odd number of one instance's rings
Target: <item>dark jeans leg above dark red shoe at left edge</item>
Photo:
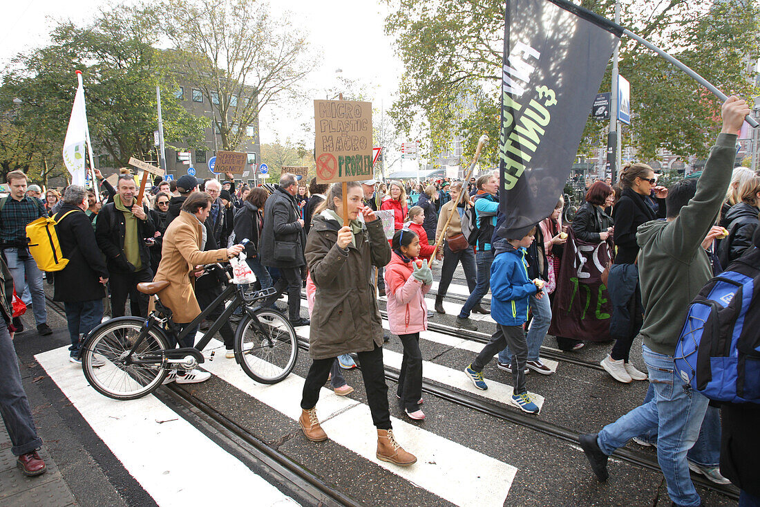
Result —
[[11, 437], [11, 452], [15, 456], [27, 454], [43, 445], [34, 427], [32, 411], [29, 408], [21, 371], [18, 369], [16, 349], [13, 348], [11, 334], [5, 320], [0, 318], [0, 415], [5, 429]]

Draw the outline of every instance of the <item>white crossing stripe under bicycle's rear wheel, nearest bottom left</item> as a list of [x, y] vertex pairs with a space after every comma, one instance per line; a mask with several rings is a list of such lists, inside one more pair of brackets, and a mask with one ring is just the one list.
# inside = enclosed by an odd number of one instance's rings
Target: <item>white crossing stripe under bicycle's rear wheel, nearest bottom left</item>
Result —
[[299, 505], [153, 395], [117, 401], [97, 393], [68, 362], [67, 346], [35, 358], [158, 505], [216, 505], [252, 492], [255, 505]]

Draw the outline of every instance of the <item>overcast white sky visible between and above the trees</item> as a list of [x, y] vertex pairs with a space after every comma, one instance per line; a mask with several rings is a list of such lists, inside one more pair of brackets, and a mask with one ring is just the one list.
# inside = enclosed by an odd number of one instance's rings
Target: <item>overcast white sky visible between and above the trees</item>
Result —
[[[25, 49], [47, 43], [54, 19], [71, 18], [86, 23], [100, 6], [108, 4], [100, 0], [4, 2], [0, 65], [6, 65]], [[277, 0], [271, 2], [271, 9], [272, 14], [290, 11], [293, 23], [306, 27], [312, 48], [322, 55], [321, 68], [304, 83], [307, 88], [324, 93], [325, 89], [337, 86], [336, 76], [342, 75], [372, 87], [375, 107], [380, 106], [381, 100], [386, 109], [390, 107], [401, 77], [401, 62], [394, 56], [391, 39], [383, 31], [388, 13], [385, 5], [375, 0]], [[337, 74], [337, 69], [342, 72]], [[286, 111], [277, 107], [264, 110], [260, 120], [261, 142], [272, 142], [277, 137], [284, 141], [289, 136], [300, 139], [301, 124], [313, 122], [313, 117], [311, 104], [289, 107]]]

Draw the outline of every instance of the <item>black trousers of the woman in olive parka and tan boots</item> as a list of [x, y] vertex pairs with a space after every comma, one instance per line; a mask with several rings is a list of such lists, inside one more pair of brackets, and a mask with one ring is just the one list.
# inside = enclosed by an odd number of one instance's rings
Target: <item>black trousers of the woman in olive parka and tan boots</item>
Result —
[[[367, 404], [372, 413], [372, 423], [377, 429], [391, 429], [391, 412], [388, 410], [388, 385], [385, 384], [385, 367], [382, 363], [382, 347], [375, 345], [369, 352], [359, 352], [359, 366], [362, 368], [364, 388], [367, 391]], [[306, 381], [303, 383], [301, 408], [309, 410], [319, 400], [319, 390], [328, 381], [334, 357], [314, 359]], [[417, 398], [419, 400], [419, 398]]]

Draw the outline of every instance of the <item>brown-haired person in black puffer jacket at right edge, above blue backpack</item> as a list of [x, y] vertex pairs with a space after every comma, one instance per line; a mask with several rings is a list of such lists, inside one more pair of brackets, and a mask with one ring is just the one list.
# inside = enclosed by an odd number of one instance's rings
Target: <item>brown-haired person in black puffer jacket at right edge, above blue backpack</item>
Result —
[[752, 248], [752, 235], [758, 228], [760, 213], [760, 176], [753, 176], [739, 187], [742, 202], [731, 206], [724, 217], [728, 238], [720, 241], [718, 259], [720, 266], [728, 266]]

